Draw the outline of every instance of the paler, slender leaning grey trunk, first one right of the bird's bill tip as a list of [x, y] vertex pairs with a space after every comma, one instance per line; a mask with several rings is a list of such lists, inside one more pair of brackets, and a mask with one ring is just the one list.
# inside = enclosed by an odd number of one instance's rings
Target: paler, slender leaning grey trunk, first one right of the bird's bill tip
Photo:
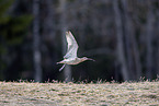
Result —
[[123, 45], [123, 30], [122, 30], [122, 19], [118, 8], [118, 0], [113, 0], [114, 15], [115, 15], [115, 25], [116, 25], [116, 37], [117, 37], [117, 47], [116, 56], [122, 68], [122, 75], [124, 81], [129, 80], [128, 70], [126, 64], [126, 59], [124, 55], [124, 45]]

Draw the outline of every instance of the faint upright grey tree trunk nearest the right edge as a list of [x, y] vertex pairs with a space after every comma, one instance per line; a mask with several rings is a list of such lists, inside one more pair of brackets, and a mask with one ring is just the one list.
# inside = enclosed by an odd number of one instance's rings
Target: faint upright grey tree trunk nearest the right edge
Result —
[[146, 33], [146, 76], [147, 79], [152, 78], [152, 36], [154, 36], [154, 22], [155, 16], [152, 13], [151, 1], [148, 2], [148, 13], [147, 13], [147, 33]]

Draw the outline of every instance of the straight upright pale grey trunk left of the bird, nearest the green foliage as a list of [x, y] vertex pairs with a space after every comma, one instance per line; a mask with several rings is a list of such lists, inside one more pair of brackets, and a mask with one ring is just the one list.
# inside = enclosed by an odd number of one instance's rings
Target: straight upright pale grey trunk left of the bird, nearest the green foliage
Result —
[[35, 81], [42, 81], [42, 68], [41, 68], [41, 50], [39, 50], [39, 0], [33, 0], [33, 57], [34, 57], [34, 70]]

